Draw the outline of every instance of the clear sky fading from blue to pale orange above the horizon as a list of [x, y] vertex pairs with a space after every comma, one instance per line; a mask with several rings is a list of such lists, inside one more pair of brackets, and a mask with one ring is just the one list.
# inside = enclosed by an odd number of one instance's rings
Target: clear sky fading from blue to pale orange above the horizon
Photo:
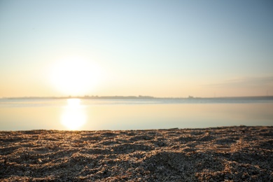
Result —
[[0, 0], [0, 98], [273, 95], [273, 1]]

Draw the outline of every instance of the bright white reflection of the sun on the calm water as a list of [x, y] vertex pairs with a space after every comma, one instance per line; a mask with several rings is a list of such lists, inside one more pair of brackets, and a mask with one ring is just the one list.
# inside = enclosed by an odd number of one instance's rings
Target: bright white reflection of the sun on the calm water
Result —
[[62, 125], [69, 130], [78, 130], [86, 123], [86, 113], [80, 99], [67, 99], [67, 106], [61, 116]]

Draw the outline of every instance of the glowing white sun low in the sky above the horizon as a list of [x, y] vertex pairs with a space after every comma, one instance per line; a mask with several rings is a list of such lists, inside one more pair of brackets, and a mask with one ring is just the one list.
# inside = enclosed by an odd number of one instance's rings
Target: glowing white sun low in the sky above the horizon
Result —
[[94, 89], [100, 80], [99, 67], [80, 57], [55, 62], [50, 72], [51, 83], [62, 94], [83, 95]]

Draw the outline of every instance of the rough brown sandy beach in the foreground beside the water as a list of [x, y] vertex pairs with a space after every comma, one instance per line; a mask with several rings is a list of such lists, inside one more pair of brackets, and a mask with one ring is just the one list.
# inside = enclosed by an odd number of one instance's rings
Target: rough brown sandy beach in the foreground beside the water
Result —
[[273, 127], [0, 132], [1, 181], [273, 181]]

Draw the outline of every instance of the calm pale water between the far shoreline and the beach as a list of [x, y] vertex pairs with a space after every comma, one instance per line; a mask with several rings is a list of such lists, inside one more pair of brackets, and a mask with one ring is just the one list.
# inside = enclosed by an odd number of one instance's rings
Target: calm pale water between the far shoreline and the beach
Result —
[[0, 99], [0, 130], [148, 130], [273, 125], [273, 98]]

